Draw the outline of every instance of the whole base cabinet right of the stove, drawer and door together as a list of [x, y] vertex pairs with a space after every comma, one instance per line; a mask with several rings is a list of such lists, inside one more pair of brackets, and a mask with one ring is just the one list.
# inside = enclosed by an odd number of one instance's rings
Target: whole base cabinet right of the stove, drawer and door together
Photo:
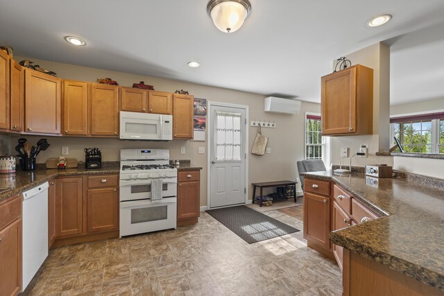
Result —
[[177, 225], [198, 223], [200, 214], [200, 170], [178, 172]]

